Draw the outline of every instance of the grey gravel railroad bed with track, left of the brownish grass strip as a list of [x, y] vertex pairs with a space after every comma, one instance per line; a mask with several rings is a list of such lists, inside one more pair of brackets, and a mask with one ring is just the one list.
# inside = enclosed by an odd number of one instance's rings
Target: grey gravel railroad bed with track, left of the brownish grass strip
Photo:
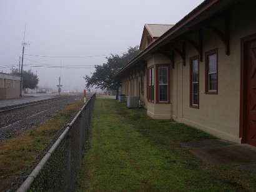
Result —
[[68, 95], [0, 108], [0, 142], [36, 128], [82, 95]]

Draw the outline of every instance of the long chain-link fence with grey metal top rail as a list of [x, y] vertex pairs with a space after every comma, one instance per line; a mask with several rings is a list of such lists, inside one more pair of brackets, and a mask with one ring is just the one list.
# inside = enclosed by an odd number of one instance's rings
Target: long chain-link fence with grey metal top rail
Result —
[[95, 94], [89, 98], [54, 143], [42, 151], [39, 163], [12, 185], [12, 191], [74, 191], [95, 99]]

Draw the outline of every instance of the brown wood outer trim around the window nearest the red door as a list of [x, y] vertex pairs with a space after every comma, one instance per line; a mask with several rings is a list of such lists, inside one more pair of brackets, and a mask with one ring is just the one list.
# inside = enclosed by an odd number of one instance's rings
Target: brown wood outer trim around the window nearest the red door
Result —
[[[211, 55], [211, 54], [215, 54], [217, 53], [217, 89], [216, 91], [209, 91], [208, 90], [208, 59], [207, 59], [207, 56], [208, 55]], [[205, 94], [215, 94], [217, 95], [218, 94], [218, 83], [219, 83], [219, 79], [218, 79], [218, 58], [219, 58], [219, 55], [218, 55], [218, 48], [217, 49], [213, 49], [213, 50], [209, 50], [207, 52], [205, 52]]]

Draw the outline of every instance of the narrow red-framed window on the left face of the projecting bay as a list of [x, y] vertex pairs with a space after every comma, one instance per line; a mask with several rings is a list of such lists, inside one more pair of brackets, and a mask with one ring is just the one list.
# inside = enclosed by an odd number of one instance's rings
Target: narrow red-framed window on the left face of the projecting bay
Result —
[[147, 101], [150, 103], [154, 103], [155, 99], [154, 71], [154, 65], [147, 68]]

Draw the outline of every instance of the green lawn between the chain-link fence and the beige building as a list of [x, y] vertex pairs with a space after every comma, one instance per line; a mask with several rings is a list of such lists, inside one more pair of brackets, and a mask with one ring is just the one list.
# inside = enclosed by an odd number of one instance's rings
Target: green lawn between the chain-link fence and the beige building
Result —
[[76, 191], [255, 191], [256, 175], [209, 165], [181, 142], [214, 138], [97, 98]]

